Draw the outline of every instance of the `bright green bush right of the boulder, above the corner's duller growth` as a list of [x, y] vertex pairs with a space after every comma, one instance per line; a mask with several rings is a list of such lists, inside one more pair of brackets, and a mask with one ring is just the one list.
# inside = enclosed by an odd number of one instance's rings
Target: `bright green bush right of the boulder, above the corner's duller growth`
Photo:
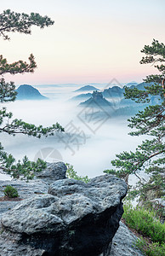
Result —
[[139, 234], [149, 236], [151, 241], [162, 244], [165, 241], [165, 223], [162, 224], [155, 216], [155, 212], [149, 212], [144, 207], [133, 208], [130, 205], [125, 205], [122, 218], [130, 228], [137, 230]]

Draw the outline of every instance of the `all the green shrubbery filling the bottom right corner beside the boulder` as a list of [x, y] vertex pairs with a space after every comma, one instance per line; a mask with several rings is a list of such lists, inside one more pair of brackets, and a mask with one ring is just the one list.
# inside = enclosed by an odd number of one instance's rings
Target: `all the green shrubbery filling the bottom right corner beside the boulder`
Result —
[[[136, 241], [136, 246], [148, 256], [165, 255], [165, 223], [162, 224], [156, 218], [156, 213], [148, 211], [144, 207], [132, 207], [125, 205], [122, 218], [125, 219], [128, 227], [137, 230], [141, 237]], [[146, 238], [146, 236], [149, 237]]]

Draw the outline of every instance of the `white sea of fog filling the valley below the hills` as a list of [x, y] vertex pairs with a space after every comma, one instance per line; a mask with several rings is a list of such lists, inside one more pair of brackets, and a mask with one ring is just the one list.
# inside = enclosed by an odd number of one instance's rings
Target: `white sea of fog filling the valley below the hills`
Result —
[[[34, 86], [35, 87], [35, 86]], [[74, 166], [78, 175], [95, 177], [111, 168], [111, 160], [122, 151], [135, 150], [144, 137], [128, 135], [127, 117], [91, 121], [85, 118], [85, 109], [70, 99], [76, 96], [80, 86], [39, 86], [37, 89], [49, 100], [15, 101], [4, 104], [14, 113], [14, 118], [35, 125], [52, 125], [59, 122], [65, 133], [57, 132], [53, 137], [9, 136], [1, 133], [4, 149], [16, 160], [25, 155], [30, 160], [38, 157], [53, 162], [62, 160]], [[8, 178], [3, 175], [0, 178]]]

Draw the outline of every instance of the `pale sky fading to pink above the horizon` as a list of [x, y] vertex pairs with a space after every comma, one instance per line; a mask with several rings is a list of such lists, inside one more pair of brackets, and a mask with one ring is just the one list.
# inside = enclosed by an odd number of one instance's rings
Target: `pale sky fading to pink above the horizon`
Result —
[[5, 9], [48, 15], [54, 26], [11, 33], [0, 38], [1, 53], [9, 62], [37, 61], [33, 74], [5, 75], [18, 84], [89, 84], [142, 82], [156, 73], [140, 65], [140, 50], [155, 38], [165, 41], [164, 0], [5, 0]]

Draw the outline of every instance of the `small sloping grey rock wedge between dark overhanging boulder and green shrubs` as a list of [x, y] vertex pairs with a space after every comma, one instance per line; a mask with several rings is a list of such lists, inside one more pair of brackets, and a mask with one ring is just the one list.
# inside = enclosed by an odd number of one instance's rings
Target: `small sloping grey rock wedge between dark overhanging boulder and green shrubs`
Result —
[[110, 256], [144, 256], [134, 245], [137, 239], [138, 238], [128, 230], [128, 227], [120, 222], [120, 227], [111, 244]]

